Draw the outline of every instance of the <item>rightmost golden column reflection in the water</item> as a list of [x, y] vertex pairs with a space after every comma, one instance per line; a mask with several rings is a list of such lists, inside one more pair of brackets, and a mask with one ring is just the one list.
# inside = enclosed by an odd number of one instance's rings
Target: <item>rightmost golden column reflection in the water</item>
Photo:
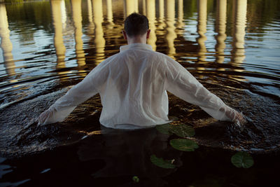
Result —
[[233, 43], [233, 61], [242, 63], [245, 59], [244, 37], [246, 27], [247, 0], [235, 0], [235, 33]]

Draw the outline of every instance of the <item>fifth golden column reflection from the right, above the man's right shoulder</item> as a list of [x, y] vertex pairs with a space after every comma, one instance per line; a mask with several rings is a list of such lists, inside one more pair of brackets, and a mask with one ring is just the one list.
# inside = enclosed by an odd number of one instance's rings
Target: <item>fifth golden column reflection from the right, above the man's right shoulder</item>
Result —
[[170, 57], [174, 57], [176, 53], [176, 49], [174, 47], [174, 39], [176, 39], [177, 35], [175, 33], [175, 0], [166, 0], [166, 41], [168, 46], [168, 55]]

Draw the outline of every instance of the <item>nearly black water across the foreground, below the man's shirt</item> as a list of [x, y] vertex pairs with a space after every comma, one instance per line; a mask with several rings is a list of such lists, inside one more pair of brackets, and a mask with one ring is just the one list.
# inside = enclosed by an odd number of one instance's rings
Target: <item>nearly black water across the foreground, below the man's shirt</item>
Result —
[[[140, 133], [147, 135], [145, 130]], [[151, 134], [155, 135], [155, 130], [149, 130], [148, 137]], [[120, 142], [121, 139], [116, 134], [92, 135], [42, 153], [1, 159], [0, 186], [277, 186], [279, 183], [279, 152], [253, 154], [253, 167], [242, 169], [230, 162], [235, 151], [223, 148], [200, 146], [194, 152], [183, 153], [162, 144], [165, 141], [160, 138], [153, 139], [151, 148], [146, 146], [151, 140], [127, 147], [128, 141]], [[149, 160], [151, 153], [174, 158], [176, 169], [153, 165]], [[133, 176], [139, 177], [139, 183], [132, 181]]]

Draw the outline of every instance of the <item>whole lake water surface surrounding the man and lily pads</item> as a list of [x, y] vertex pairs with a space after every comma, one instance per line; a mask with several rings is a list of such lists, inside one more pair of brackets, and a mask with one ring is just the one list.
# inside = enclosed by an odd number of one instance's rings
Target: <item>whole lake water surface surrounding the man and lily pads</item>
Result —
[[[154, 50], [181, 63], [226, 104], [243, 111], [250, 120], [244, 131], [214, 120], [171, 94], [169, 115], [195, 128], [193, 139], [202, 147], [195, 153], [171, 151], [167, 146], [170, 137], [162, 137], [155, 129], [132, 132], [134, 137], [126, 132], [103, 133], [99, 95], [78, 106], [64, 122], [36, 127], [42, 111], [126, 44], [121, 33], [123, 20], [133, 12], [148, 17], [148, 44]], [[265, 160], [270, 159], [273, 165], [280, 148], [279, 34], [280, 1], [274, 0], [0, 3], [0, 186], [38, 186], [40, 180], [50, 176], [53, 180], [46, 185], [55, 180], [71, 184], [70, 179], [65, 182], [69, 176], [73, 176], [76, 186], [82, 181], [85, 185], [110, 183], [105, 179], [116, 180], [120, 186], [137, 185], [127, 182], [133, 175], [143, 176], [146, 183], [142, 184], [147, 186], [202, 186], [200, 176], [205, 183], [223, 181], [224, 186], [258, 185], [261, 182], [257, 172], [266, 172], [267, 177], [270, 174], [270, 181], [276, 179], [272, 173], [280, 169], [279, 165], [274, 169], [265, 167]], [[146, 134], [145, 140], [141, 133]], [[232, 151], [256, 154], [260, 165], [255, 164], [255, 169], [246, 174], [251, 182], [241, 176], [246, 171], [232, 168], [225, 160], [230, 160]], [[183, 164], [177, 165], [183, 166], [176, 171], [162, 171], [145, 161], [151, 153], [166, 153], [167, 158], [181, 160]], [[221, 158], [225, 169], [214, 169], [219, 160], [211, 160], [215, 156]], [[139, 160], [143, 161], [141, 165]], [[213, 170], [213, 176], [199, 170], [190, 174], [188, 165]], [[30, 166], [34, 169], [26, 169]], [[147, 179], [147, 169], [153, 180]], [[53, 178], [58, 173], [64, 174]], [[184, 173], [190, 179], [184, 179]]]

